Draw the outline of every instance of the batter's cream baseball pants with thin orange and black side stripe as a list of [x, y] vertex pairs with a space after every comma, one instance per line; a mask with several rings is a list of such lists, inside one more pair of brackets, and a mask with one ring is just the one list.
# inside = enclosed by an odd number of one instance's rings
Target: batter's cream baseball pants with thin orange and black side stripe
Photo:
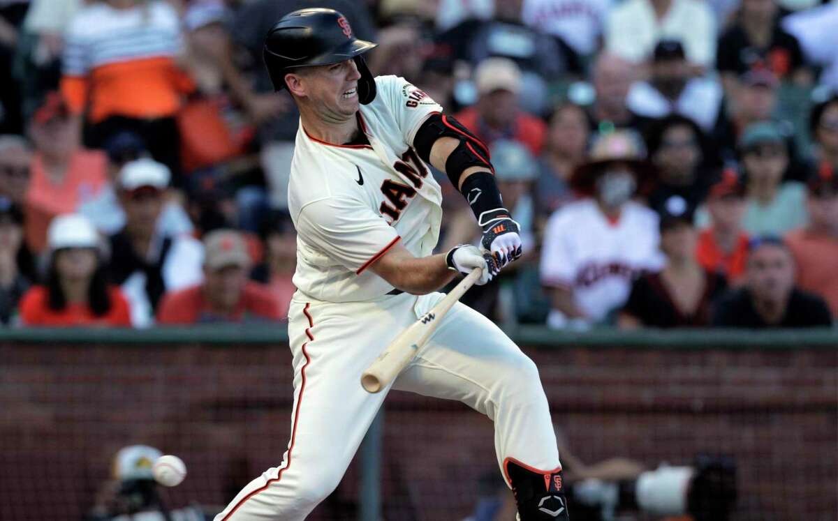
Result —
[[[389, 390], [370, 395], [361, 373], [442, 297], [402, 293], [336, 304], [297, 302], [297, 293], [288, 327], [294, 369], [288, 450], [282, 465], [244, 487], [215, 521], [297, 521], [332, 493]], [[470, 307], [454, 305], [392, 387], [460, 400], [488, 415], [501, 472], [508, 457], [544, 472], [560, 466], [535, 364]]]

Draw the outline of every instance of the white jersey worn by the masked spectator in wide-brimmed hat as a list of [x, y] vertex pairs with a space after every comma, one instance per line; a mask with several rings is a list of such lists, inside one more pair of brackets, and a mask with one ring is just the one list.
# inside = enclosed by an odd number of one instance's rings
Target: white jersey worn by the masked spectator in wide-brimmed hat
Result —
[[541, 249], [541, 282], [572, 289], [577, 305], [600, 321], [629, 297], [634, 277], [658, 270], [658, 215], [629, 202], [611, 222], [593, 199], [556, 211], [547, 222]]

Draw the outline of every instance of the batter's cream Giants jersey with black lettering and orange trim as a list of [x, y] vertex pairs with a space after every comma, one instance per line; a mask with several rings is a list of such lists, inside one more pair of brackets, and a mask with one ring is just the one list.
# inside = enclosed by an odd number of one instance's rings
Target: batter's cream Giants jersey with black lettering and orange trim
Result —
[[430, 255], [439, 237], [442, 191], [411, 146], [422, 122], [442, 106], [397, 76], [375, 78], [361, 105], [370, 145], [332, 145], [297, 131], [288, 209], [297, 228], [294, 285], [310, 298], [358, 302], [391, 286], [366, 268], [401, 240]]

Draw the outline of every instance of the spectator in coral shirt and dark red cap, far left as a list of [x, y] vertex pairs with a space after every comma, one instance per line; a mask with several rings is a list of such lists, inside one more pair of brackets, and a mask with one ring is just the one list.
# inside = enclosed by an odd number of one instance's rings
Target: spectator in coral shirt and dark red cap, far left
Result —
[[29, 126], [35, 145], [24, 210], [26, 240], [44, 249], [49, 221], [72, 214], [107, 183], [107, 157], [81, 147], [80, 128], [58, 93], [50, 93]]

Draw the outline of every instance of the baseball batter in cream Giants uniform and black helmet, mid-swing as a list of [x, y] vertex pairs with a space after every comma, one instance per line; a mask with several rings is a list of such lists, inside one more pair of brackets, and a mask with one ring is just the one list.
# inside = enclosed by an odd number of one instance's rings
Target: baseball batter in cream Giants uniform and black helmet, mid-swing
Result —
[[[535, 364], [493, 322], [457, 303], [401, 374], [370, 394], [360, 374], [444, 295], [481, 268], [489, 282], [521, 255], [489, 153], [422, 90], [373, 78], [331, 9], [287, 14], [267, 34], [277, 90], [300, 111], [288, 205], [297, 229], [298, 291], [288, 313], [293, 354], [291, 441], [215, 521], [304, 519], [338, 486], [387, 391], [460, 400], [494, 420], [500, 472], [523, 521], [568, 519], [556, 436]], [[432, 255], [444, 171], [483, 230], [482, 249]]]

